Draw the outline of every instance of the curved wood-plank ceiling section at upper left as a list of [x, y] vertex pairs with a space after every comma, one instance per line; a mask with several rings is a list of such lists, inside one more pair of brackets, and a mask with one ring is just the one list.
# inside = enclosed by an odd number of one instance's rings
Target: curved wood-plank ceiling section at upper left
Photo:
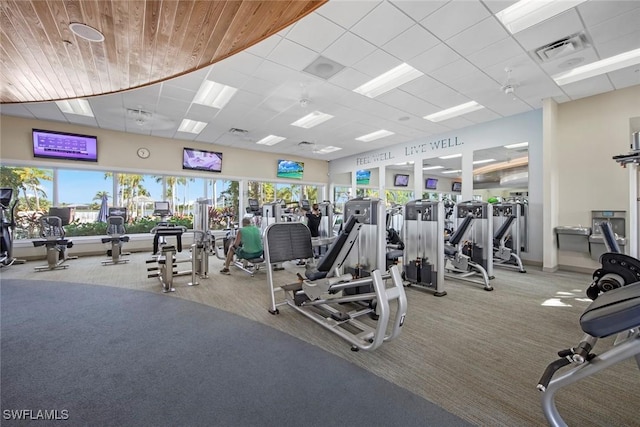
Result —
[[[277, 33], [327, 0], [2, 0], [0, 102], [117, 92], [189, 73]], [[89, 42], [69, 24], [105, 37]]]

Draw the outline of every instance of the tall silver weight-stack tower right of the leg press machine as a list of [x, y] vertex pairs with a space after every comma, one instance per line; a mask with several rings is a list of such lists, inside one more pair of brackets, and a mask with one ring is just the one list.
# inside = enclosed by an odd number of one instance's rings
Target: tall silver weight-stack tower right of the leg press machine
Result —
[[444, 205], [414, 200], [404, 208], [403, 279], [444, 296]]

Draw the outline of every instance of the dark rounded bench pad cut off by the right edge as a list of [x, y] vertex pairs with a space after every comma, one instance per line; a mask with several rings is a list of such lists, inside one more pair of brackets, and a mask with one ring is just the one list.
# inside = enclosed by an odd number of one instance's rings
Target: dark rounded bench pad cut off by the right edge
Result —
[[604, 292], [580, 317], [582, 330], [604, 338], [640, 326], [640, 282]]

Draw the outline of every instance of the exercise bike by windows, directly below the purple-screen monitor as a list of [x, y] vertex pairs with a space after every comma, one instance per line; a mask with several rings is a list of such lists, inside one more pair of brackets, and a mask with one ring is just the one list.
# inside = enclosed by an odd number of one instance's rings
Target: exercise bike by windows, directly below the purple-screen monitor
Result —
[[72, 219], [70, 208], [49, 208], [49, 215], [40, 217], [42, 239], [32, 240], [32, 243], [34, 247], [45, 247], [47, 265], [35, 267], [36, 271], [64, 269], [69, 267], [65, 264], [67, 260], [78, 258], [67, 255], [67, 249], [73, 247], [73, 242], [65, 238], [64, 226]]

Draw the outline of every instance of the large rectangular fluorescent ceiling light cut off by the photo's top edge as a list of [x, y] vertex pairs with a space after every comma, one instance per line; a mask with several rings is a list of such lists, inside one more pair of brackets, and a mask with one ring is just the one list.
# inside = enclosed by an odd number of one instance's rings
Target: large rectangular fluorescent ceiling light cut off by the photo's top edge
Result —
[[507, 27], [511, 34], [546, 21], [586, 0], [520, 0], [496, 13], [496, 18]]

